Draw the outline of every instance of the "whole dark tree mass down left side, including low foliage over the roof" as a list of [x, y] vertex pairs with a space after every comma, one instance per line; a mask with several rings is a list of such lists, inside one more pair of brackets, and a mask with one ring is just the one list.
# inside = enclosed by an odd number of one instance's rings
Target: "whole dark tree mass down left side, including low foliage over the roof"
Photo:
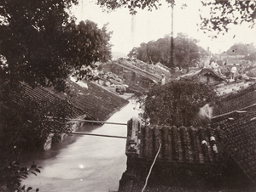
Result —
[[67, 13], [73, 3], [78, 0], [0, 1], [1, 170], [50, 132], [67, 130], [71, 112], [67, 101], [27, 98], [20, 82], [64, 91], [73, 70], [90, 79], [95, 62], [110, 58], [107, 25], [76, 25]]

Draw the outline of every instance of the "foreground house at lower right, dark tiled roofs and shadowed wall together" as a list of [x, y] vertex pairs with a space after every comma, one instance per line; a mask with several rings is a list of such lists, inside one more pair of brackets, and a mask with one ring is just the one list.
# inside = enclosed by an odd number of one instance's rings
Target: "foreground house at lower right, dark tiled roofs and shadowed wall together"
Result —
[[208, 125], [144, 126], [131, 119], [119, 191], [142, 191], [148, 176], [146, 191], [255, 191], [255, 138], [256, 84], [218, 98]]

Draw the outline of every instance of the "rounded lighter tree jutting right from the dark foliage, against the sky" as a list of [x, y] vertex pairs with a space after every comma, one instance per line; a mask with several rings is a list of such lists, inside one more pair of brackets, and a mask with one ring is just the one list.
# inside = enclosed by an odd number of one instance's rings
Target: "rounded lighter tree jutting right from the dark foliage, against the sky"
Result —
[[108, 25], [99, 29], [96, 23], [85, 20], [76, 25], [74, 21], [67, 27], [67, 55], [73, 66], [74, 75], [79, 79], [91, 80], [91, 72], [97, 61], [106, 62], [111, 59], [112, 32], [108, 32]]

